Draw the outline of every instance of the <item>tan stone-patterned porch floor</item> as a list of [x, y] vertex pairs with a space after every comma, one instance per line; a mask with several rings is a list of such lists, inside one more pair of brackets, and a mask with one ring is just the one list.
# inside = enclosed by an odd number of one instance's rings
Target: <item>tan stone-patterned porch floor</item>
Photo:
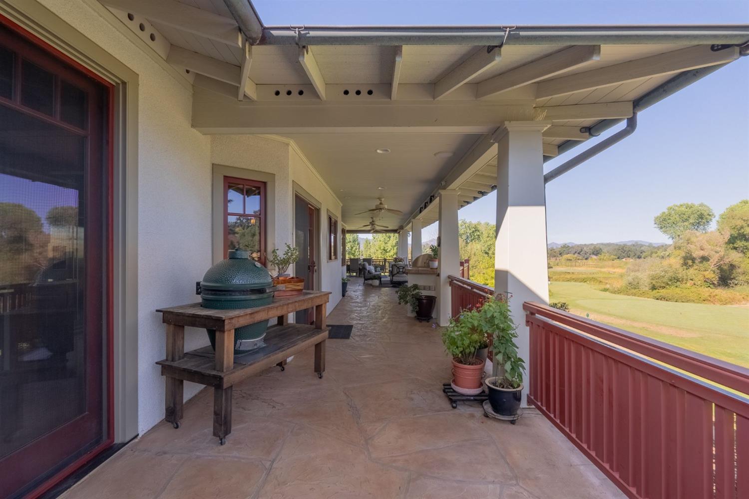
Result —
[[515, 426], [452, 409], [441, 385], [440, 329], [407, 318], [391, 287], [352, 279], [330, 313], [354, 324], [234, 387], [233, 431], [212, 433], [212, 394], [185, 405], [180, 429], [160, 423], [64, 496], [82, 498], [623, 498], [536, 411]]

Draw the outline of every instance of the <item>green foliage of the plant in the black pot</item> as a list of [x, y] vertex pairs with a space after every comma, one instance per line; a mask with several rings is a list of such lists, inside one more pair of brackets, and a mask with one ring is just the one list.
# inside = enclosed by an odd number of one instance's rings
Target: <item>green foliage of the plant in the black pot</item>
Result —
[[510, 314], [509, 297], [491, 297], [484, 301], [479, 310], [482, 327], [491, 335], [491, 349], [494, 352], [494, 370], [497, 388], [516, 389], [523, 385], [525, 361], [518, 356], [518, 326]]

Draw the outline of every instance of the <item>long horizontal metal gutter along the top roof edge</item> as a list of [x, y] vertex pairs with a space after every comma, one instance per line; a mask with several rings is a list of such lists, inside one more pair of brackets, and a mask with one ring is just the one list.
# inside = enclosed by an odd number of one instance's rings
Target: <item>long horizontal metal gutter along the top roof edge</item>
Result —
[[[246, 0], [225, 0], [243, 4]], [[231, 7], [230, 7], [231, 8]], [[240, 24], [241, 25], [241, 24]], [[297, 37], [297, 29], [300, 29]], [[266, 26], [264, 45], [741, 45], [749, 25]]]

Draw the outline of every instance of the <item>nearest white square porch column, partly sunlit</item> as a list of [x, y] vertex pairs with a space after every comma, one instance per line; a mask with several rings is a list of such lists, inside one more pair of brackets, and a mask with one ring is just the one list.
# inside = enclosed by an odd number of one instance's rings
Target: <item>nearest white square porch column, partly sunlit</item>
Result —
[[[518, 353], [530, 363], [524, 301], [549, 301], [546, 197], [541, 132], [550, 123], [506, 122], [497, 138], [497, 245], [494, 289], [511, 293]], [[527, 373], [523, 405], [527, 405]]]

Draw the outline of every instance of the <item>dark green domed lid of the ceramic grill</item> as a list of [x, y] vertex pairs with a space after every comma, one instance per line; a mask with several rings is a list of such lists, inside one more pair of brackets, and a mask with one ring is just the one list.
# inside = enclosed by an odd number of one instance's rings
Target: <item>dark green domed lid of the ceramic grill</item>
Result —
[[259, 290], [272, 286], [270, 272], [249, 260], [249, 252], [244, 250], [229, 251], [228, 259], [208, 269], [200, 284], [203, 290]]

